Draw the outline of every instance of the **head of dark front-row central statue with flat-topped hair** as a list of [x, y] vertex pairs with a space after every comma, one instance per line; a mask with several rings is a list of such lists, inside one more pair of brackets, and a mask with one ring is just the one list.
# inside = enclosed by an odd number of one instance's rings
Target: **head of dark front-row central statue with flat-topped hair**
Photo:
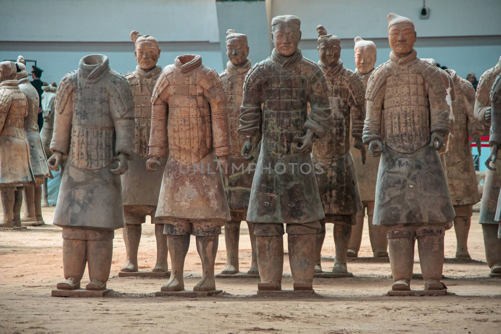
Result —
[[291, 56], [301, 41], [301, 20], [294, 15], [273, 18], [272, 41], [279, 54]]

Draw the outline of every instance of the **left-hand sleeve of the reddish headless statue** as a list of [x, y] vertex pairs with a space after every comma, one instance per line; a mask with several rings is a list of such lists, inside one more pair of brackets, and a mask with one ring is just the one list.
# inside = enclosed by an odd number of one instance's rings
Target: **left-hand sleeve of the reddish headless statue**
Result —
[[158, 78], [151, 96], [151, 129], [149, 157], [166, 158], [169, 154], [167, 141], [167, 115], [169, 112], [169, 74], [167, 66]]

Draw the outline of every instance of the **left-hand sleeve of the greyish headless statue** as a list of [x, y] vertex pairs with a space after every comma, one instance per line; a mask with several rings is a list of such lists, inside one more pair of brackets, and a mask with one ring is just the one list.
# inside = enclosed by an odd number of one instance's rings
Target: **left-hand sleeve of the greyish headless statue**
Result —
[[54, 114], [54, 132], [52, 134], [51, 151], [59, 151], [64, 155], [70, 153], [73, 108], [75, 106], [76, 72], [67, 74], [61, 79], [56, 92], [56, 113]]

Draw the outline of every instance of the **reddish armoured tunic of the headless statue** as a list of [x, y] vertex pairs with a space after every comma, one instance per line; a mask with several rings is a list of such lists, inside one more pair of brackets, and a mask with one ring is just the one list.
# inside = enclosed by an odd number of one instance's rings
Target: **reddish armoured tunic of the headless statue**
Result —
[[228, 102], [219, 76], [200, 56], [179, 56], [164, 68], [151, 101], [149, 156], [168, 155], [156, 216], [167, 223], [229, 221], [215, 161], [230, 154]]

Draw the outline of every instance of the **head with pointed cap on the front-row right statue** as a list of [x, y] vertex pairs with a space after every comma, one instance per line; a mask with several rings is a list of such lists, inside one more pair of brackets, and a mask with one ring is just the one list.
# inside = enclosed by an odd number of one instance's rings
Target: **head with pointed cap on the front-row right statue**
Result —
[[403, 16], [388, 14], [388, 41], [394, 53], [400, 55], [410, 53], [416, 42], [414, 23]]

